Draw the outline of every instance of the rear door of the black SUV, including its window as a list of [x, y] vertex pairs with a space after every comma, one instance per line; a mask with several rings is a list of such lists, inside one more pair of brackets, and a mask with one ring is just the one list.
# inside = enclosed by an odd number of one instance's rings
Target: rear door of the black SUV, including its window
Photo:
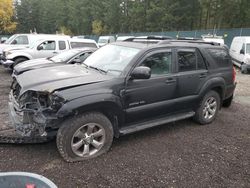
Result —
[[194, 106], [198, 93], [208, 77], [208, 70], [196, 48], [177, 49], [178, 110], [189, 110]]

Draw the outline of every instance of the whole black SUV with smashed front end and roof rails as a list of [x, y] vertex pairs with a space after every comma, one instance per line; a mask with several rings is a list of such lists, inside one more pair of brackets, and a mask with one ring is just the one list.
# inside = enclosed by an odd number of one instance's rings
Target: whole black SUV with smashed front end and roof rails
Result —
[[9, 111], [21, 137], [57, 137], [68, 162], [99, 156], [114, 137], [191, 118], [209, 124], [230, 106], [235, 71], [225, 46], [202, 41], [113, 43], [83, 65], [24, 72]]

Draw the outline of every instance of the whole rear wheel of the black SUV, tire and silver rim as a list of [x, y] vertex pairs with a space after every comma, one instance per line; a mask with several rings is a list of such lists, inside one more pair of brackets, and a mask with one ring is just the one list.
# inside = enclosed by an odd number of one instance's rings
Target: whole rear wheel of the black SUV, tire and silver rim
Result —
[[212, 123], [219, 111], [220, 103], [219, 94], [216, 91], [209, 91], [196, 110], [194, 120], [201, 125]]

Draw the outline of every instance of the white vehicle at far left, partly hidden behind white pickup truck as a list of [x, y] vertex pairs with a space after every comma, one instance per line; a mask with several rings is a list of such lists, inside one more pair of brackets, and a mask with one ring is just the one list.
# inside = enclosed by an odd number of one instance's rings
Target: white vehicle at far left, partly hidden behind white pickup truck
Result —
[[[6, 48], [26, 48], [31, 47], [34, 42], [46, 39], [48, 37], [55, 37], [60, 35], [49, 35], [49, 34], [15, 34], [8, 38], [4, 43], [0, 44], [0, 60], [2, 59], [3, 51]], [[70, 38], [70, 36], [63, 35], [64, 37]]]

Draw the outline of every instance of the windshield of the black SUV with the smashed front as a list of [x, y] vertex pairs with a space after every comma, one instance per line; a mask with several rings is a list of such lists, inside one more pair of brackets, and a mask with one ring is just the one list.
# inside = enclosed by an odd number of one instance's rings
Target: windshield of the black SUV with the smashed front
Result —
[[139, 51], [140, 49], [137, 48], [106, 45], [89, 56], [84, 64], [114, 75], [120, 75]]

